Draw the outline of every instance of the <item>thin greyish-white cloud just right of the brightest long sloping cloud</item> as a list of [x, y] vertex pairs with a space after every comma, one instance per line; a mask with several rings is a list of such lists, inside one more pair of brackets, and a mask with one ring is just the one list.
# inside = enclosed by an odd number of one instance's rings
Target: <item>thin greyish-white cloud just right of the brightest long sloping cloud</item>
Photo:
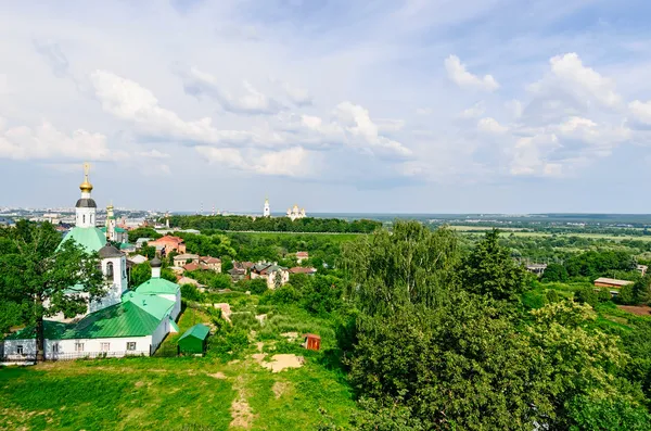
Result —
[[[178, 68], [178, 67], [177, 67]], [[225, 111], [237, 114], [277, 114], [283, 109], [282, 103], [276, 99], [258, 91], [251, 83], [244, 80], [244, 93], [241, 96], [232, 96], [224, 90], [217, 78], [208, 73], [202, 72], [195, 67], [190, 71], [180, 71], [179, 75], [183, 79], [183, 88], [186, 92], [193, 96], [206, 96], [215, 100], [221, 105]], [[309, 94], [301, 93], [301, 90], [293, 89], [293, 97], [309, 99]], [[286, 91], [286, 89], [285, 89]]]

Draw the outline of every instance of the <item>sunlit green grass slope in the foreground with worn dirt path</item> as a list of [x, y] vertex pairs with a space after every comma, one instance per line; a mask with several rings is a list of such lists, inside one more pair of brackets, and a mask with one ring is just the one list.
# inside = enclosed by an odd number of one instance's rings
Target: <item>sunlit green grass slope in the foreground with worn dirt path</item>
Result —
[[[294, 307], [267, 307], [269, 321], [251, 333], [238, 362], [206, 357], [139, 357], [47, 363], [28, 368], [0, 368], [0, 430], [229, 430], [233, 402], [244, 400], [252, 430], [312, 430], [323, 422], [347, 428], [356, 410], [344, 372], [332, 366], [335, 347], [330, 319]], [[204, 313], [187, 308], [182, 333]], [[239, 324], [235, 324], [239, 325]], [[306, 351], [301, 339], [281, 332], [317, 332], [322, 350]], [[179, 334], [164, 345], [176, 352]], [[252, 355], [294, 353], [302, 368], [278, 373], [260, 367]]]

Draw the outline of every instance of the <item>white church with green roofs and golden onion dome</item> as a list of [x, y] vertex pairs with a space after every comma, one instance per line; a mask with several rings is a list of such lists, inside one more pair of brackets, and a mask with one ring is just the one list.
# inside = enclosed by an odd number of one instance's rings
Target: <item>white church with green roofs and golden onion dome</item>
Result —
[[[75, 227], [66, 233], [61, 244], [75, 241], [86, 251], [97, 253], [107, 289], [102, 297], [88, 302], [84, 315], [73, 319], [55, 315], [43, 322], [46, 359], [150, 356], [168, 333], [179, 330], [176, 320], [181, 310], [180, 288], [161, 278], [162, 262], [154, 258], [151, 261], [151, 278], [135, 290], [129, 290], [126, 256], [106, 241], [114, 225], [110, 225], [107, 218], [106, 230], [97, 227], [97, 203], [91, 197], [88, 165], [85, 165], [85, 178], [79, 189], [81, 197], [75, 205]], [[108, 207], [113, 210], [112, 205]], [[79, 294], [80, 290], [80, 286], [72, 286], [66, 293]], [[35, 355], [34, 327], [5, 339], [5, 357], [18, 359]]]

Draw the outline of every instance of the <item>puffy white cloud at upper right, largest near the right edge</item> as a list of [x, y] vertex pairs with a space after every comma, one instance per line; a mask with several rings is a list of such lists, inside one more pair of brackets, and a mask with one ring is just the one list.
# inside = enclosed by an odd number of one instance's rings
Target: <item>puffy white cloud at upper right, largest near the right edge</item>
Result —
[[551, 74], [529, 86], [529, 90], [538, 93], [552, 92], [554, 88], [573, 94], [579, 101], [596, 101], [613, 107], [622, 102], [615, 91], [615, 83], [601, 76], [593, 68], [583, 64], [575, 52], [557, 55], [549, 60]]

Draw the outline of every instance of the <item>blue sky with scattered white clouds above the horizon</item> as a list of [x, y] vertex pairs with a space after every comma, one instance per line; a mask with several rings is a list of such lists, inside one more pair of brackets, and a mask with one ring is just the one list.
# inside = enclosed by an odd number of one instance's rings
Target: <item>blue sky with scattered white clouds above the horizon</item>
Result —
[[0, 206], [651, 213], [647, 0], [0, 3]]

